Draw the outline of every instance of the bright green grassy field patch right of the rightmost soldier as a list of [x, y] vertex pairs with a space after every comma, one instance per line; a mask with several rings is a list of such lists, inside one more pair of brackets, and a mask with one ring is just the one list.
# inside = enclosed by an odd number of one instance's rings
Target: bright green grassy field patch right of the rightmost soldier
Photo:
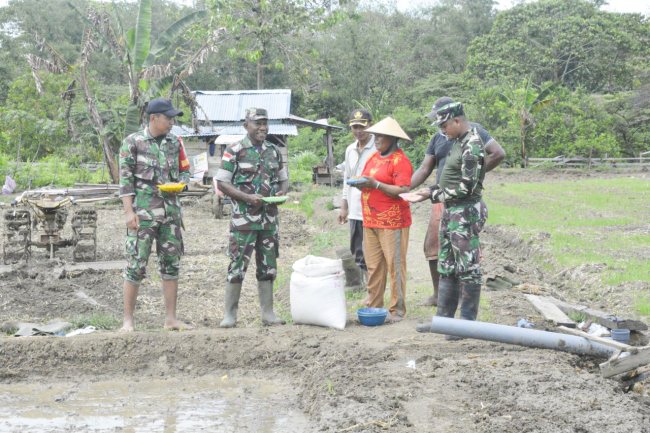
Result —
[[551, 235], [557, 264], [606, 264], [603, 284], [650, 282], [643, 232], [650, 182], [634, 178], [490, 185], [489, 224], [512, 225], [525, 239]]

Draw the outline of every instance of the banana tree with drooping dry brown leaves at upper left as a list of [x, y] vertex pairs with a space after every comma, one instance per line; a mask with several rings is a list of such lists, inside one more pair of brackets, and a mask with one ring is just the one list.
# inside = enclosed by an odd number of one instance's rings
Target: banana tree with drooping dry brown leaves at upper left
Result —
[[[75, 6], [69, 3], [75, 9]], [[179, 56], [176, 64], [171, 62], [157, 64], [156, 62], [167, 54], [173, 43], [182, 40], [182, 34], [187, 28], [203, 19], [205, 11], [195, 11], [176, 21], [161, 33], [156, 42], [151, 44], [152, 26], [152, 1], [140, 0], [138, 3], [138, 16], [136, 25], [128, 31], [123, 30], [119, 19], [118, 6], [113, 3], [113, 16], [104, 10], [90, 7], [86, 14], [77, 12], [84, 17], [86, 29], [82, 40], [80, 57], [75, 65], [67, 65], [46, 41], [37, 41], [39, 48], [49, 54], [51, 60], [30, 56], [28, 61], [39, 87], [39, 70], [48, 70], [53, 73], [68, 73], [72, 82], [68, 91], [63, 95], [69, 107], [72, 104], [76, 88], [80, 86], [97, 135], [102, 142], [104, 159], [114, 183], [119, 182], [119, 173], [116, 164], [115, 150], [119, 146], [119, 137], [137, 131], [141, 125], [142, 108], [144, 101], [160, 96], [166, 90], [169, 96], [180, 91], [190, 109], [196, 108], [191, 92], [185, 86], [183, 79], [194, 72], [196, 66], [202, 63], [216, 46], [219, 37], [223, 34], [221, 29], [210, 32], [204, 38], [205, 42], [196, 51]], [[100, 114], [96, 98], [89, 85], [88, 69], [91, 64], [92, 53], [100, 46], [107, 48], [114, 57], [122, 59], [126, 75], [128, 76], [129, 103], [126, 115], [121, 117], [110, 114], [124, 113], [124, 107], [110, 107], [106, 117]], [[121, 109], [120, 109], [121, 108]], [[119, 125], [119, 126], [118, 126]], [[121, 134], [119, 133], [121, 131]]]

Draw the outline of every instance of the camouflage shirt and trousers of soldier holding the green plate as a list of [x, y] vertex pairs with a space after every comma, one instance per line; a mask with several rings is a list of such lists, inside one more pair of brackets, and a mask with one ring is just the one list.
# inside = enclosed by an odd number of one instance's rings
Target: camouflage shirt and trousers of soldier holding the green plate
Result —
[[[224, 151], [218, 181], [232, 183], [246, 194], [264, 197], [279, 192], [280, 182], [287, 180], [279, 149], [268, 141], [255, 147], [248, 136]], [[253, 207], [232, 200], [228, 256], [228, 282], [241, 283], [255, 252], [258, 281], [272, 281], [277, 275], [278, 207], [265, 204]]]

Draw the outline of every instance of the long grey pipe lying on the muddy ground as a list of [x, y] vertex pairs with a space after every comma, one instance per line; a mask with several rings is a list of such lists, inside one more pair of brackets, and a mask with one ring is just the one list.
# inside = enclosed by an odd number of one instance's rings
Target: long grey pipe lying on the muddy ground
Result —
[[591, 341], [585, 337], [540, 331], [537, 329], [518, 328], [516, 326], [497, 325], [496, 323], [477, 322], [473, 320], [450, 319], [433, 316], [430, 329], [419, 327], [418, 331], [437, 334], [455, 335], [457, 337], [477, 338], [479, 340], [516, 344], [519, 346], [554, 349], [578, 355], [592, 355], [610, 358], [618, 349]]

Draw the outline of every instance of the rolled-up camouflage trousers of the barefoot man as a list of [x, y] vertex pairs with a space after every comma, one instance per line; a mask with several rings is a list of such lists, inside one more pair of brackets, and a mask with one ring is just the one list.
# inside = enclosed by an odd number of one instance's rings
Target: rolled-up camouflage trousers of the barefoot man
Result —
[[163, 280], [177, 280], [183, 254], [180, 224], [170, 220], [140, 220], [137, 230], [126, 232], [124, 279], [139, 284], [145, 277], [151, 247], [156, 241], [158, 269]]

